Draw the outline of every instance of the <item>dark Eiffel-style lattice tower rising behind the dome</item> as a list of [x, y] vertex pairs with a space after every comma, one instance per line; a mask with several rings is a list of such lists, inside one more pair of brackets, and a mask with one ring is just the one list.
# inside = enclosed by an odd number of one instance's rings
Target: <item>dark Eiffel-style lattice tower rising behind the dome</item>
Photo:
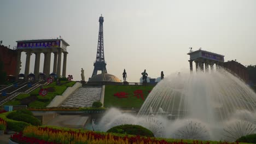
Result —
[[[104, 58], [104, 43], [103, 43], [103, 22], [104, 19], [102, 15], [98, 20], [100, 22], [100, 28], [98, 29], [98, 46], [97, 46], [97, 55], [96, 61], [94, 62], [94, 71], [92, 72], [92, 76], [97, 75], [97, 71], [101, 70], [101, 73], [107, 73], [106, 62]], [[92, 77], [91, 76], [91, 77]]]

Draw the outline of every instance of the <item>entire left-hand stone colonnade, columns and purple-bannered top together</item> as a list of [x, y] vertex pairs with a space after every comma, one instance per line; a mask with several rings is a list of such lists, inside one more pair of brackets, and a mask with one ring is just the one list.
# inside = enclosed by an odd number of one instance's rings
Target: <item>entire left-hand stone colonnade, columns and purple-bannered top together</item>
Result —
[[[37, 39], [37, 40], [18, 40], [17, 42], [17, 52], [18, 52], [18, 62], [16, 68], [16, 80], [18, 80], [18, 75], [20, 74], [21, 65], [21, 52], [26, 52], [26, 65], [25, 65], [25, 79], [30, 71], [30, 57], [32, 53], [36, 55], [34, 62], [34, 78], [39, 79], [39, 66], [40, 66], [40, 55], [44, 53], [44, 67], [43, 73], [46, 76], [50, 75], [50, 63], [51, 63], [51, 53], [54, 53], [54, 65], [53, 73], [57, 77], [66, 77], [66, 66], [67, 66], [67, 46], [69, 44], [63, 39]], [[61, 75], [61, 57], [63, 53], [63, 66]]]

